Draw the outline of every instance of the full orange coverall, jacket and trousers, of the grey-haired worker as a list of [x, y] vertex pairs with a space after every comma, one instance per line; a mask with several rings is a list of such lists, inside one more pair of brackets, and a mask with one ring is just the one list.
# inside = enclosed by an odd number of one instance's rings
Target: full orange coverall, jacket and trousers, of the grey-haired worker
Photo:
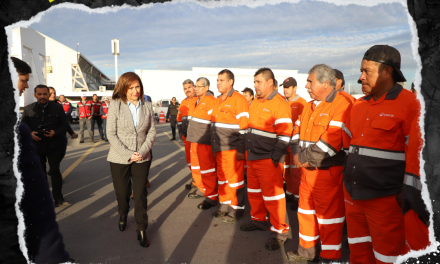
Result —
[[[343, 134], [351, 103], [333, 90], [324, 101], [308, 103], [296, 122], [292, 155], [313, 168], [302, 168], [298, 222], [301, 256], [339, 259], [345, 221], [342, 164]], [[312, 170], [314, 169], [314, 170]]]

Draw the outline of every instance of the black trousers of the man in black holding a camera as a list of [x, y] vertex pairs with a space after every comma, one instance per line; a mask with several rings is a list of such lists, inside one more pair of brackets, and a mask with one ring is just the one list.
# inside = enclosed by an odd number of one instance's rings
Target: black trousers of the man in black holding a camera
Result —
[[61, 188], [63, 186], [63, 177], [60, 171], [60, 163], [65, 155], [65, 152], [65, 146], [61, 146], [60, 148], [54, 149], [52, 151], [37, 153], [37, 156], [40, 158], [41, 167], [43, 167], [44, 173], [46, 173], [47, 171], [46, 161], [49, 163], [49, 171], [47, 172], [47, 174], [50, 175], [50, 180], [52, 182], [52, 197], [55, 201], [63, 199], [63, 194], [61, 193]]

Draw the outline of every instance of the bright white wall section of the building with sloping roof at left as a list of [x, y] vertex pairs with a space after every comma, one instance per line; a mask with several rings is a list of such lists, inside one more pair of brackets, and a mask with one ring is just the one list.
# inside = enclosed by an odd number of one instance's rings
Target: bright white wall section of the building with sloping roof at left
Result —
[[54, 87], [57, 94], [73, 92], [72, 64], [77, 64], [76, 50], [40, 34], [46, 39], [47, 66], [52, 66], [52, 73], [47, 73], [47, 85]]

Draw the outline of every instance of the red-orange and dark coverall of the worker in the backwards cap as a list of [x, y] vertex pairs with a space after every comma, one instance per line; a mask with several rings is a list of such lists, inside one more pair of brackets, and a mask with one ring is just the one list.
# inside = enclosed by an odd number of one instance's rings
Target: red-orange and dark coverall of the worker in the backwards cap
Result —
[[420, 104], [395, 83], [381, 98], [355, 101], [346, 122], [344, 195], [350, 262], [392, 263], [405, 254], [396, 201], [405, 175], [405, 141]]

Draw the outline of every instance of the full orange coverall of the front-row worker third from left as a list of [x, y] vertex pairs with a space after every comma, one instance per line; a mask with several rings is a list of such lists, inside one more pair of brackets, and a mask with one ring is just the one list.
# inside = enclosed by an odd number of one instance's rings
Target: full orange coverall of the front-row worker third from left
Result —
[[237, 152], [245, 153], [249, 103], [232, 89], [226, 99], [215, 101], [211, 115], [211, 146], [216, 154], [220, 211], [240, 217], [244, 211], [244, 165]]

